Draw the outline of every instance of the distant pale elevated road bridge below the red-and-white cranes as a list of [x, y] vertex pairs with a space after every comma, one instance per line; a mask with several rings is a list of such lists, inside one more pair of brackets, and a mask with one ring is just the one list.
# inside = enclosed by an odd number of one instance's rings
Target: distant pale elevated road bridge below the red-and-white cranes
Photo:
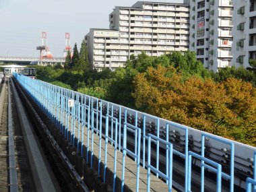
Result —
[[0, 57], [0, 63], [18, 63], [23, 65], [64, 65], [65, 59], [59, 57], [54, 59], [42, 59], [36, 57]]

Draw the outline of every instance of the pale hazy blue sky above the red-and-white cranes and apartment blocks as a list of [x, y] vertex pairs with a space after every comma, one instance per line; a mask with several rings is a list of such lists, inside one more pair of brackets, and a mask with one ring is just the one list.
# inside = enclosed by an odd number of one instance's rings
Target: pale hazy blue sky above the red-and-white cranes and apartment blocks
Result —
[[[149, 0], [150, 1], [150, 0]], [[65, 32], [71, 46], [79, 47], [90, 28], [108, 28], [108, 14], [115, 6], [135, 0], [0, 0], [0, 57], [39, 57], [41, 33], [55, 57], [63, 57]], [[153, 2], [153, 1], [152, 1]], [[155, 0], [154, 2], [171, 2]], [[181, 3], [182, 0], [172, 0]]]

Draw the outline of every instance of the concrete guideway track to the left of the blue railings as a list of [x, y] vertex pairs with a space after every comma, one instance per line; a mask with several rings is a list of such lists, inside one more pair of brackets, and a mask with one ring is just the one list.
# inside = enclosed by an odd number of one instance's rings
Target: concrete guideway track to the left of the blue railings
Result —
[[23, 102], [13, 80], [4, 77], [0, 84], [0, 191], [78, 191], [69, 172], [59, 171], [63, 164], [53, 158], [56, 155], [52, 156], [47, 140], [38, 137], [34, 127], [40, 126]]

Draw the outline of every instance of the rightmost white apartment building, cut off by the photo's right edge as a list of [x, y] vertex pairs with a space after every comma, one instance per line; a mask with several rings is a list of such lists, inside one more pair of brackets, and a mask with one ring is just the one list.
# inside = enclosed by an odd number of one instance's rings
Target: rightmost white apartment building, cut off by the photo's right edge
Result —
[[246, 68], [250, 67], [249, 59], [256, 59], [256, 0], [236, 0], [233, 5], [232, 63]]

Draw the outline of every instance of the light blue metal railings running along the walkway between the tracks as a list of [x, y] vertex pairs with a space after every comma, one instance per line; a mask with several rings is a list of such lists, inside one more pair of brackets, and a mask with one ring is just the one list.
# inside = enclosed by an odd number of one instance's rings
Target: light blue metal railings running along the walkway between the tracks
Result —
[[[114, 148], [114, 172], [113, 189], [116, 188], [117, 178], [117, 150], [123, 152], [121, 187], [124, 190], [125, 185], [125, 156], [133, 158], [136, 163], [136, 191], [139, 191], [140, 165], [148, 169], [147, 190], [150, 191], [150, 172], [154, 172], [156, 177], [160, 176], [166, 181], [168, 190], [172, 190], [172, 155], [175, 154], [185, 161], [184, 168], [184, 191], [191, 191], [191, 160], [195, 158], [200, 160], [201, 167], [201, 191], [204, 189], [204, 170], [207, 168], [217, 173], [217, 191], [221, 188], [221, 179], [230, 181], [230, 191], [234, 191], [234, 143], [228, 139], [217, 137], [208, 133], [201, 133], [201, 155], [195, 152], [189, 152], [189, 130], [190, 127], [180, 125], [146, 113], [140, 113], [137, 110], [126, 108], [118, 104], [106, 102], [92, 96], [80, 94], [72, 90], [60, 88], [42, 82], [40, 80], [30, 79], [24, 75], [14, 73], [13, 76], [20, 85], [26, 90], [31, 98], [38, 104], [44, 114], [52, 123], [64, 134], [65, 139], [76, 148], [81, 156], [86, 158], [90, 166], [94, 164], [94, 151], [98, 148], [98, 174], [103, 175], [106, 182], [106, 168], [108, 162], [108, 146]], [[150, 125], [148, 125], [150, 123]], [[162, 127], [161, 127], [162, 126]], [[183, 150], [174, 149], [170, 139], [170, 133], [175, 131], [183, 132], [183, 139], [180, 142]], [[84, 133], [87, 133], [87, 140]], [[75, 136], [77, 135], [77, 136]], [[162, 136], [160, 136], [162, 135]], [[94, 144], [94, 138], [98, 137], [98, 145]], [[161, 138], [162, 137], [162, 138]], [[104, 139], [104, 160], [102, 160], [102, 139]], [[129, 141], [131, 139], [132, 141]], [[223, 172], [220, 163], [205, 158], [205, 140], [212, 139], [223, 145], [228, 146], [223, 151], [226, 152], [227, 162], [230, 163], [230, 172]], [[122, 141], [123, 140], [123, 141]], [[134, 147], [128, 148], [127, 143], [132, 142]], [[151, 143], [154, 143], [152, 147]], [[86, 146], [86, 152], [84, 152]], [[164, 149], [164, 152], [160, 150]], [[151, 155], [154, 152], [156, 162], [151, 164]], [[148, 156], [148, 157], [147, 157]], [[160, 169], [160, 156], [164, 156], [165, 168]], [[208, 156], [209, 157], [209, 156]], [[254, 153], [254, 177], [247, 179], [247, 191], [251, 185], [255, 186], [256, 181], [256, 152]], [[103, 172], [101, 169], [103, 163]], [[211, 166], [210, 166], [210, 165]], [[254, 187], [255, 189], [255, 187]], [[251, 192], [251, 191], [250, 191]]]

